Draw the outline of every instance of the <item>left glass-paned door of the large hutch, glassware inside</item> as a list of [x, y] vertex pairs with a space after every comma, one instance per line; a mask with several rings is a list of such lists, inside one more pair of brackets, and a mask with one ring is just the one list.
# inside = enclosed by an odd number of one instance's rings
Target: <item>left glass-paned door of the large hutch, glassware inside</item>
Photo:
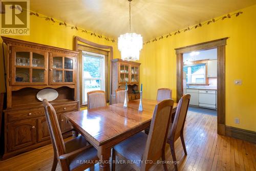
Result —
[[48, 53], [46, 51], [13, 47], [12, 59], [13, 86], [46, 85], [48, 83]]

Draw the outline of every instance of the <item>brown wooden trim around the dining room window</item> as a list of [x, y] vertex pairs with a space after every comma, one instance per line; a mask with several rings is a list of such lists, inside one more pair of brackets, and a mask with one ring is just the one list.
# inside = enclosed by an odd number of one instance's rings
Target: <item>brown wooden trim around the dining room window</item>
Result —
[[[109, 70], [108, 70], [108, 74], [110, 75], [110, 77], [109, 78], [112, 78], [112, 63], [111, 63], [111, 60], [113, 59], [113, 47], [112, 46], [106, 46], [106, 45], [100, 45], [100, 44], [96, 44], [95, 42], [92, 42], [92, 41], [89, 41], [89, 40], [87, 40], [87, 39], [84, 39], [84, 38], [81, 38], [81, 37], [78, 37], [78, 36], [75, 36], [74, 37], [74, 50], [75, 51], [78, 51], [79, 50], [79, 46], [81, 46], [81, 44], [78, 44], [78, 42], [82, 42], [83, 44], [86, 44], [86, 45], [89, 45], [90, 46], [90, 48], [94, 48], [94, 49], [98, 49], [98, 50], [107, 50], [108, 52], [109, 52], [109, 55], [108, 55], [108, 57], [109, 57], [109, 63], [110, 63], [110, 67], [109, 67]], [[86, 46], [86, 47], [88, 47], [88, 46]], [[79, 73], [79, 62], [77, 62], [77, 72]], [[106, 71], [105, 71], [106, 72]], [[110, 83], [109, 83], [109, 81], [110, 81]], [[111, 99], [110, 98], [110, 95], [112, 94], [112, 90], [111, 89], [109, 89], [109, 85], [110, 85], [110, 87], [112, 87], [112, 79], [108, 79], [106, 82], [105, 82], [105, 84], [106, 84], [106, 87], [105, 87], [105, 89], [106, 90], [109, 90], [109, 93], [108, 94], [106, 94], [106, 99], [107, 100], [109, 100], [109, 99]], [[80, 83], [79, 83], [79, 77], [77, 77], [77, 86], [78, 86], [78, 91], [80, 91], [80, 89], [79, 89], [79, 85], [80, 85]], [[80, 93], [78, 92], [78, 97], [77, 97], [77, 99], [80, 99]]]

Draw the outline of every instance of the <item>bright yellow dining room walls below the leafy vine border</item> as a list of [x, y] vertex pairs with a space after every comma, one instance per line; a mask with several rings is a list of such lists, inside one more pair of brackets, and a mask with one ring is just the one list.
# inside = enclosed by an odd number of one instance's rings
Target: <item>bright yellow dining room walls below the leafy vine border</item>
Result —
[[[256, 6], [242, 11], [244, 13], [239, 17], [204, 25], [143, 46], [139, 61], [143, 98], [155, 99], [157, 89], [162, 87], [173, 89], [173, 97], [176, 98], [175, 48], [229, 37], [226, 46], [226, 125], [256, 131]], [[44, 18], [30, 18], [30, 36], [13, 38], [73, 49], [73, 36], [77, 35], [98, 44], [113, 46], [114, 58], [120, 56], [116, 43], [52, 24]], [[2, 46], [0, 50], [2, 54]], [[0, 92], [5, 91], [2, 61], [3, 55], [0, 55]], [[234, 86], [234, 79], [242, 79], [243, 85]], [[240, 124], [234, 124], [236, 117], [240, 118]]]

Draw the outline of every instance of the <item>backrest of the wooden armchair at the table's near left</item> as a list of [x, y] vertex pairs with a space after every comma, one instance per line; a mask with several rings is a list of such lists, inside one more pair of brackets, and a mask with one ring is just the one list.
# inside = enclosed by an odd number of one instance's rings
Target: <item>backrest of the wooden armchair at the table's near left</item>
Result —
[[59, 160], [59, 156], [66, 154], [66, 147], [63, 141], [58, 118], [53, 106], [46, 100], [42, 100], [45, 107], [46, 121], [53, 145], [54, 152], [57, 154], [57, 159], [61, 165], [61, 168], [68, 168], [68, 160]]

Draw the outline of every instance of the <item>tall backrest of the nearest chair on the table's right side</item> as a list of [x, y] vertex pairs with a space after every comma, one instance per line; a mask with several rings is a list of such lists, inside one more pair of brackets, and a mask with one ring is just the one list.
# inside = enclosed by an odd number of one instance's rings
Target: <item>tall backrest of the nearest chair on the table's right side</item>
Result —
[[172, 118], [174, 101], [165, 99], [155, 106], [148, 133], [143, 161], [152, 160], [153, 163], [142, 163], [141, 170], [147, 170], [164, 154], [170, 120]]

